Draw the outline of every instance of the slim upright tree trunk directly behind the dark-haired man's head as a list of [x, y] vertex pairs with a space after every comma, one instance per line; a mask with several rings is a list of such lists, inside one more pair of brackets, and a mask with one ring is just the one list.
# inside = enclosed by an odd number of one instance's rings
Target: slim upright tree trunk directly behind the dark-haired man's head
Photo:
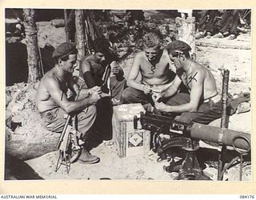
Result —
[[85, 56], [85, 31], [82, 10], [75, 10], [75, 28], [77, 32], [78, 61], [81, 61]]

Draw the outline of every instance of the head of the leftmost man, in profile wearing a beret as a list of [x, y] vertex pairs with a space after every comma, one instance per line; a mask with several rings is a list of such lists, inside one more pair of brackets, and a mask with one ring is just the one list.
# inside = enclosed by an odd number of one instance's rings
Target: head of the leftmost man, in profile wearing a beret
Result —
[[78, 50], [72, 42], [64, 42], [53, 52], [52, 58], [63, 70], [73, 73], [76, 66]]

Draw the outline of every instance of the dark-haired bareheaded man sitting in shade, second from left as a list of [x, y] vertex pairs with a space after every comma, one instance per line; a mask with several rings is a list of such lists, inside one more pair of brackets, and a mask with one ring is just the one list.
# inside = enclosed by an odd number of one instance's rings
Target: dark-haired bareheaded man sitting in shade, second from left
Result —
[[[112, 102], [120, 104], [121, 92], [126, 86], [123, 71], [117, 63], [117, 56], [110, 52], [110, 42], [106, 38], [97, 38], [94, 42], [94, 54], [88, 54], [82, 59], [78, 84], [85, 84], [86, 88], [104, 86], [103, 92], [110, 89]], [[110, 65], [110, 71], [107, 70]], [[110, 77], [109, 81], [107, 80]]]

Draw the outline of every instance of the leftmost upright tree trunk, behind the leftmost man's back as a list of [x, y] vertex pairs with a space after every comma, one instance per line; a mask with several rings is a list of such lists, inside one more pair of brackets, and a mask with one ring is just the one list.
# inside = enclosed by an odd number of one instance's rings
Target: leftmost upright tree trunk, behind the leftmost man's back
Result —
[[38, 82], [42, 77], [40, 70], [40, 58], [38, 52], [38, 30], [34, 22], [34, 9], [23, 9], [24, 26], [26, 32], [26, 50], [28, 54], [27, 63], [29, 67], [29, 83]]

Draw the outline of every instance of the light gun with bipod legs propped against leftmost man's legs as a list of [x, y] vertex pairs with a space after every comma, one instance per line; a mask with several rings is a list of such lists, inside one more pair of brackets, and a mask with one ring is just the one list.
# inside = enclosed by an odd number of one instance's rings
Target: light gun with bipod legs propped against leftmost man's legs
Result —
[[[79, 87], [78, 94], [75, 101], [78, 100], [78, 96], [82, 86]], [[72, 120], [72, 126], [70, 125], [70, 119]], [[70, 165], [78, 159], [82, 151], [82, 140], [78, 139], [78, 135], [81, 135], [75, 127], [75, 116], [68, 114], [65, 125], [62, 130], [62, 134], [58, 138], [57, 148], [59, 150], [58, 162], [55, 171], [58, 171], [60, 166], [65, 165], [67, 174], [70, 172]]]

